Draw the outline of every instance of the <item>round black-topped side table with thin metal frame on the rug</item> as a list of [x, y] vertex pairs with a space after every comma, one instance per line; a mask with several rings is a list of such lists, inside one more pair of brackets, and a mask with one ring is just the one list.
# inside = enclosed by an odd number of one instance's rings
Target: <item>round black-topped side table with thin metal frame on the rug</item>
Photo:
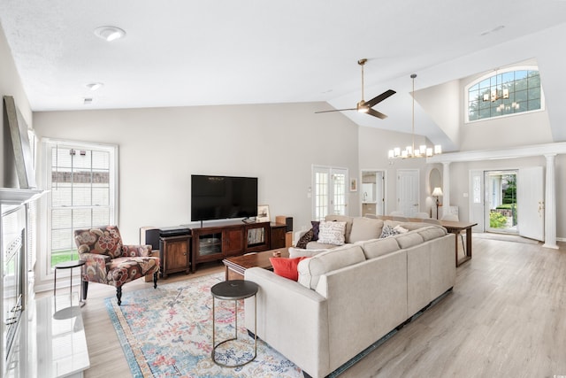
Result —
[[[212, 352], [211, 357], [212, 361], [219, 366], [225, 367], [238, 367], [244, 366], [249, 362], [256, 359], [257, 356], [257, 289], [258, 286], [256, 282], [244, 281], [244, 280], [232, 280], [232, 281], [225, 281], [219, 282], [216, 285], [210, 288], [210, 293], [212, 294]], [[222, 345], [223, 343], [227, 343], [229, 341], [237, 340], [238, 339], [238, 301], [240, 299], [246, 299], [249, 297], [254, 297], [255, 301], [255, 313], [254, 313], [254, 356], [244, 361], [240, 364], [235, 365], [226, 365], [221, 362], [218, 362], [216, 359], [216, 350], [218, 346]], [[235, 332], [232, 338], [227, 340], [221, 341], [220, 343], [216, 343], [216, 310], [215, 310], [215, 302], [217, 299], [220, 300], [227, 300], [233, 301], [234, 303], [234, 319], [235, 319]]]

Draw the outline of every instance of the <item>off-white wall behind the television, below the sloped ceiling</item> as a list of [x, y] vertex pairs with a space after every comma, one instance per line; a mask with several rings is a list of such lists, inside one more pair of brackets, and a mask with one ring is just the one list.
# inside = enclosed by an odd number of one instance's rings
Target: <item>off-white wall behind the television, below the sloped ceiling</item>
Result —
[[[36, 112], [38, 135], [119, 145], [119, 228], [190, 220], [190, 175], [258, 177], [258, 201], [310, 228], [311, 166], [358, 172], [357, 126], [320, 104], [254, 104], [84, 112]], [[357, 193], [349, 193], [357, 204]], [[358, 215], [357, 205], [351, 215]]]

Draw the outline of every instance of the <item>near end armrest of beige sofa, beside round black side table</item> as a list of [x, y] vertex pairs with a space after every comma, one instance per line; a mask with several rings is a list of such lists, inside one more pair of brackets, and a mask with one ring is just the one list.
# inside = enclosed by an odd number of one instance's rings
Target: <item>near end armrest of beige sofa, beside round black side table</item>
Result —
[[[247, 269], [244, 276], [259, 286], [257, 336], [311, 376], [326, 371], [329, 342], [325, 297], [259, 267]], [[254, 298], [246, 299], [245, 305], [246, 328], [253, 331]]]

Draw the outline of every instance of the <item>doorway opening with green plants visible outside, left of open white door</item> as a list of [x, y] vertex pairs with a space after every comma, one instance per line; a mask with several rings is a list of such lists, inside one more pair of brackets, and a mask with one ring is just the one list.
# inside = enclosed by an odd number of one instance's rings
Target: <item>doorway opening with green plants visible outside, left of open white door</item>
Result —
[[486, 231], [518, 234], [517, 171], [486, 171]]

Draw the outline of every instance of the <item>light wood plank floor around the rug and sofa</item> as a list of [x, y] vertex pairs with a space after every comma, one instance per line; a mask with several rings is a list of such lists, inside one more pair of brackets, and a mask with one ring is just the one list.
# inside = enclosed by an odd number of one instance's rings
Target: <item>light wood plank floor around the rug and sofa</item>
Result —
[[[539, 245], [473, 239], [473, 258], [458, 267], [453, 293], [402, 328], [341, 376], [553, 377], [566, 374], [566, 243]], [[222, 271], [173, 274], [160, 283]], [[151, 285], [138, 280], [125, 291]], [[91, 284], [82, 309], [90, 368], [86, 378], [131, 376], [103, 298]], [[379, 320], [376, 320], [379, 321]]]

